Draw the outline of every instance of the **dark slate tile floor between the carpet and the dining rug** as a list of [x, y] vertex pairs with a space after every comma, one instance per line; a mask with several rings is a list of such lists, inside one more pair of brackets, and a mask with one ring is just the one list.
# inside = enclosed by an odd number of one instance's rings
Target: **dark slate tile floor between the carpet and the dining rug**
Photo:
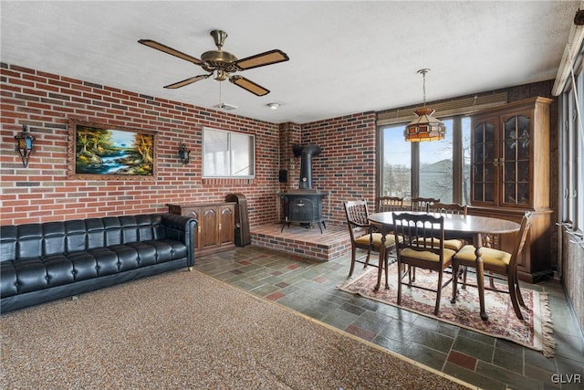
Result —
[[[558, 280], [550, 297], [556, 355], [435, 321], [337, 289], [350, 258], [315, 262], [248, 246], [197, 258], [195, 269], [485, 389], [584, 389], [584, 340]], [[362, 271], [356, 267], [356, 275]], [[574, 383], [576, 382], [576, 383]]]

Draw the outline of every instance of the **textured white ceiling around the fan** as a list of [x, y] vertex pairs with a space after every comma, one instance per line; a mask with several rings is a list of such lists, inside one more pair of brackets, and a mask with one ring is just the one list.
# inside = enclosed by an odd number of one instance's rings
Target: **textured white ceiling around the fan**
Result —
[[[0, 3], [2, 62], [264, 121], [305, 123], [555, 79], [580, 1], [40, 1]], [[272, 48], [284, 63], [243, 76], [264, 97], [137, 43], [149, 38], [200, 58]], [[267, 103], [277, 102], [277, 111]]]

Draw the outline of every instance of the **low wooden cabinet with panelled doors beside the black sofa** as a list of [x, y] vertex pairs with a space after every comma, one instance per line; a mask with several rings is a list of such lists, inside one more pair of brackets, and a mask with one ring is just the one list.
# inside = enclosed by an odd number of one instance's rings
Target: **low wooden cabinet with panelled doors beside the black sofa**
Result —
[[169, 212], [198, 221], [193, 233], [194, 256], [235, 248], [235, 202], [168, 205]]

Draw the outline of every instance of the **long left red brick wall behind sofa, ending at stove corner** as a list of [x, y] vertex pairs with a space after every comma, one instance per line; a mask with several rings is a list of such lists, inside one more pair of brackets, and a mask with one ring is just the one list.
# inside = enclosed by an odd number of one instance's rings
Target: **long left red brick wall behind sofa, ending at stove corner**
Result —
[[[272, 222], [278, 190], [278, 125], [140, 95], [34, 69], [2, 64], [0, 174], [2, 225], [90, 216], [165, 212], [167, 203], [247, 197], [251, 224]], [[158, 179], [69, 180], [68, 119], [157, 132]], [[14, 136], [30, 126], [34, 152], [24, 168], [14, 151]], [[203, 180], [203, 126], [255, 134], [254, 180]], [[192, 162], [178, 158], [181, 142]]]

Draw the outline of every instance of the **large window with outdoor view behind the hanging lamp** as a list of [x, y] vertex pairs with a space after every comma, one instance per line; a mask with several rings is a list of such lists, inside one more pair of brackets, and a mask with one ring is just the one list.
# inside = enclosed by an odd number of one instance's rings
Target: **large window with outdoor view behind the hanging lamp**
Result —
[[441, 141], [406, 142], [407, 123], [381, 127], [380, 195], [439, 198], [466, 205], [470, 199], [470, 118], [442, 119]]

